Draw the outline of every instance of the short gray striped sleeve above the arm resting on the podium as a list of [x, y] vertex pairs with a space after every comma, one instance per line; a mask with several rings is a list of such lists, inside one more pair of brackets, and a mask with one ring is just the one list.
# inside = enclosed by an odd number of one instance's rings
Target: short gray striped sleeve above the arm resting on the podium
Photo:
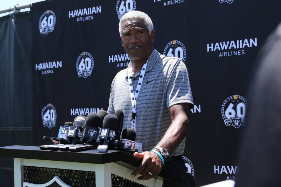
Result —
[[168, 108], [178, 103], [190, 103], [190, 109], [193, 108], [188, 70], [184, 62], [181, 60], [175, 62], [169, 71], [166, 84], [165, 95]]

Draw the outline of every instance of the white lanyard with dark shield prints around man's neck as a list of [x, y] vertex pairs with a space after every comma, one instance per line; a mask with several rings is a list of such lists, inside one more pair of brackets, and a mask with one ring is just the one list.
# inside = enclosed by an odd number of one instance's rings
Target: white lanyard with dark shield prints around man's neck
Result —
[[[148, 60], [147, 60], [148, 61]], [[140, 78], [138, 79], [138, 85], [136, 86], [136, 93], [134, 94], [134, 88], [132, 85], [132, 67], [129, 66], [128, 68], [128, 82], [129, 82], [129, 90], [130, 90], [130, 100], [132, 102], [132, 129], [136, 128], [136, 100], [138, 99], [138, 94], [141, 89], [141, 84], [143, 83], [143, 77], [145, 76], [145, 69], [147, 66], [147, 61], [145, 64], [143, 64], [143, 67], [141, 68], [141, 74]]]

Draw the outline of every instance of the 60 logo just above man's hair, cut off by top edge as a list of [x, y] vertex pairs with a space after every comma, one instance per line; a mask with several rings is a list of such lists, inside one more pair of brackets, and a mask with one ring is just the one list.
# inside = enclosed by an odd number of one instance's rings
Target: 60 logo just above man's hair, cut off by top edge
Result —
[[119, 20], [121, 17], [132, 10], [136, 10], [136, 1], [135, 0], [118, 0], [116, 3], [116, 12]]

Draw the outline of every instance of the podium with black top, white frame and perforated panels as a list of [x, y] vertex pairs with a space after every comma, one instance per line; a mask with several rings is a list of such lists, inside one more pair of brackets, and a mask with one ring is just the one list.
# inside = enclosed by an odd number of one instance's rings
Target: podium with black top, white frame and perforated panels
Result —
[[165, 170], [149, 180], [137, 180], [140, 175], [131, 178], [142, 160], [116, 150], [107, 153], [99, 153], [96, 149], [69, 152], [13, 145], [0, 147], [0, 156], [14, 158], [16, 187], [41, 187], [46, 183], [50, 185], [45, 186], [63, 186], [60, 184], [64, 183], [66, 186], [85, 187], [161, 187], [163, 180], [175, 186], [179, 186], [181, 181], [178, 175]]

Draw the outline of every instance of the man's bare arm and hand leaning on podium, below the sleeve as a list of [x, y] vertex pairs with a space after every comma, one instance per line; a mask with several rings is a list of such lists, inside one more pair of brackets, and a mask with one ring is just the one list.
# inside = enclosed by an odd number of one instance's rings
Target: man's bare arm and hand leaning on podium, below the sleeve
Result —
[[[186, 129], [190, 117], [190, 103], [179, 103], [171, 106], [169, 108], [169, 115], [171, 125], [157, 146], [164, 147], [171, 153], [186, 137]], [[155, 150], [158, 151], [157, 149]], [[162, 160], [156, 153], [149, 151], [135, 152], [134, 156], [143, 159], [143, 161], [132, 173], [132, 177], [141, 174], [142, 176], [138, 177], [138, 180], [148, 180], [160, 173]]]

